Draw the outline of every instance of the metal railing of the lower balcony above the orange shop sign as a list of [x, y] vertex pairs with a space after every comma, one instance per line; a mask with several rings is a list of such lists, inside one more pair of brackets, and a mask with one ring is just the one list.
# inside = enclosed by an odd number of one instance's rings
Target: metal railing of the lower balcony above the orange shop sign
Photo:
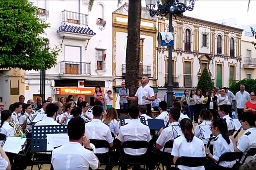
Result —
[[72, 61], [61, 61], [60, 63], [60, 74], [91, 74], [91, 63], [90, 62], [72, 62]]

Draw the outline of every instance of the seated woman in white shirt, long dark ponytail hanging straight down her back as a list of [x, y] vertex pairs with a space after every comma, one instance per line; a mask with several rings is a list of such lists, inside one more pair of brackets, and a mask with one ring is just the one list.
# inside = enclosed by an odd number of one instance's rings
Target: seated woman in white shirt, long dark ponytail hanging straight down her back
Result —
[[[172, 147], [173, 163], [181, 156], [187, 157], [204, 157], [205, 148], [204, 142], [196, 137], [193, 133], [193, 123], [190, 119], [184, 118], [180, 121], [180, 129], [183, 133], [180, 137], [174, 139]], [[187, 167], [178, 166], [180, 170], [204, 170], [204, 166]]]

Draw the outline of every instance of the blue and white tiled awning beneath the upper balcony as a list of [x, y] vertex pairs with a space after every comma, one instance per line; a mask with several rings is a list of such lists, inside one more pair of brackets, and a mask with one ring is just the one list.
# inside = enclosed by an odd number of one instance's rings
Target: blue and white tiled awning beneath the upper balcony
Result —
[[91, 30], [88, 26], [73, 26], [66, 23], [63, 23], [57, 30], [57, 32], [71, 32], [77, 34], [85, 34], [85, 35], [96, 35], [93, 30]]

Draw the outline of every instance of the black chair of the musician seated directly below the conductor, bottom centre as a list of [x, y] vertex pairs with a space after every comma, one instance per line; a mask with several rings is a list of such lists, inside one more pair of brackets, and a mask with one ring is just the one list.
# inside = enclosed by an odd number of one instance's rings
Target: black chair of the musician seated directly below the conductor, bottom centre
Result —
[[121, 150], [121, 155], [119, 159], [119, 166], [118, 170], [120, 170], [120, 167], [122, 165], [145, 165], [147, 164], [147, 159], [148, 159], [148, 151], [140, 156], [133, 156], [133, 155], [128, 155], [124, 152], [124, 148], [130, 148], [130, 149], [148, 149], [149, 144], [147, 141], [126, 141], [122, 144], [122, 150]]

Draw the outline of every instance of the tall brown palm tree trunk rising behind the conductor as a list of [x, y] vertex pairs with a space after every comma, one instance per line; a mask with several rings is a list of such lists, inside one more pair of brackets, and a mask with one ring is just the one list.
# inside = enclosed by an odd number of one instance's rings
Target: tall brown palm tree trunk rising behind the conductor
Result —
[[[129, 89], [130, 96], [134, 96], [138, 88], [140, 19], [141, 0], [129, 0], [128, 37], [125, 59], [125, 84], [126, 87]], [[136, 103], [137, 102], [133, 102], [133, 104]]]

